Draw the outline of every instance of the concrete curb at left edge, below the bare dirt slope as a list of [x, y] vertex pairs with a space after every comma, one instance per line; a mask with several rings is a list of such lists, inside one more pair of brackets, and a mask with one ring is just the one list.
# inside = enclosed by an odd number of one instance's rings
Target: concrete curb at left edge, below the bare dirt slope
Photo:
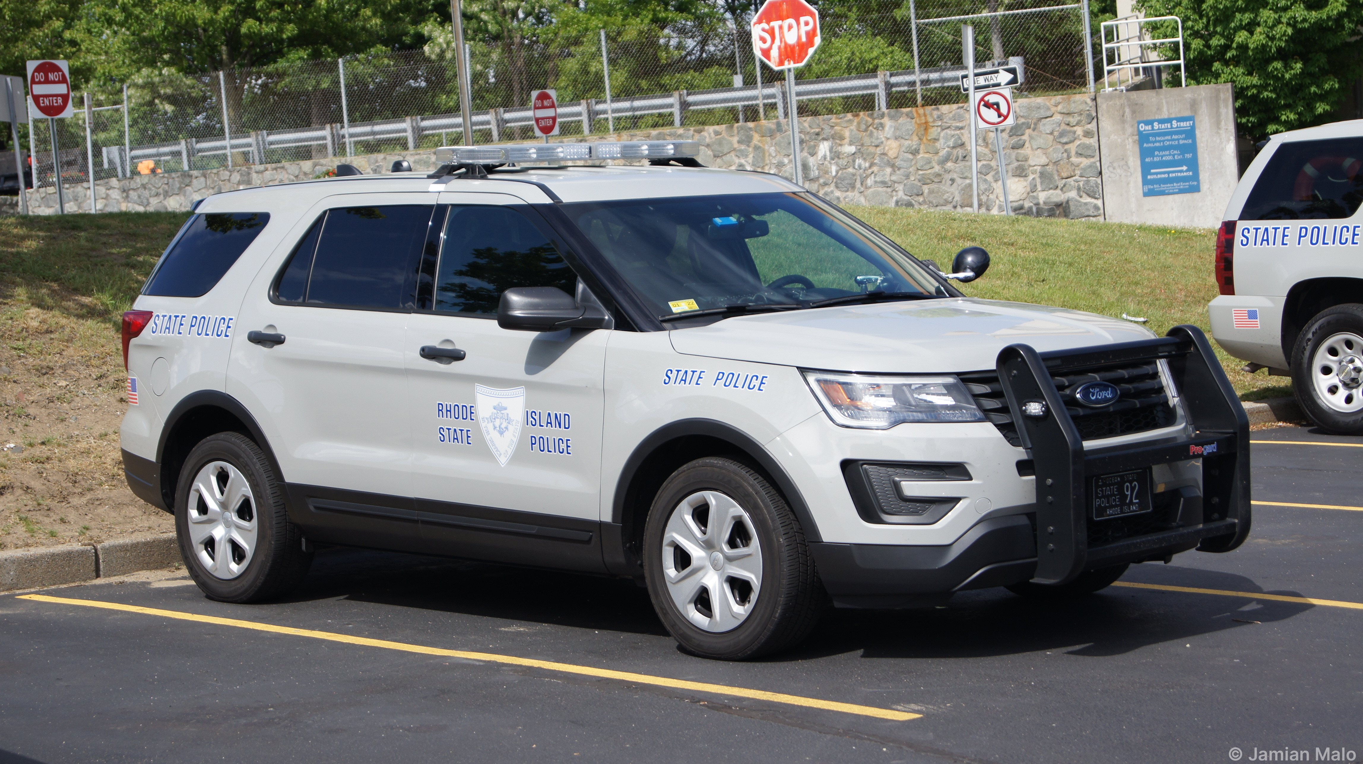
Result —
[[46, 546], [0, 552], [0, 591], [74, 584], [180, 562], [174, 534], [95, 546]]

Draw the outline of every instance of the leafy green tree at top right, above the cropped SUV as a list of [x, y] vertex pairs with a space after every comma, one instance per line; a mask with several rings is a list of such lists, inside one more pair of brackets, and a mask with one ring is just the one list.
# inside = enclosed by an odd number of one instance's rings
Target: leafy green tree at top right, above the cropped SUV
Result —
[[1234, 84], [1235, 117], [1251, 139], [1330, 121], [1363, 72], [1359, 0], [1145, 0], [1144, 8], [1183, 20], [1189, 84]]

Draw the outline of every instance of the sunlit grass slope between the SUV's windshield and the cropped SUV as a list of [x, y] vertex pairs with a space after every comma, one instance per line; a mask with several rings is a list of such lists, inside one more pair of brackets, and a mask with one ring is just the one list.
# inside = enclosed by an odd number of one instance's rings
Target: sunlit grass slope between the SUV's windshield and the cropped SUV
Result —
[[[990, 252], [990, 271], [961, 290], [972, 297], [1015, 300], [1149, 319], [1150, 331], [1194, 324], [1212, 334], [1206, 304], [1216, 297], [1210, 229], [1167, 229], [972, 215], [891, 207], [849, 207], [917, 257], [942, 268], [972, 244]], [[1246, 375], [1244, 361], [1212, 342], [1242, 399], [1291, 395], [1287, 377]]]

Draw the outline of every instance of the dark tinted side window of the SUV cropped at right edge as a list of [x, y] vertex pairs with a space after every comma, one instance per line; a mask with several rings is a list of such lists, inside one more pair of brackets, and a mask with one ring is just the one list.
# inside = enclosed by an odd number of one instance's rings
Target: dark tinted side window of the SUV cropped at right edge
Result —
[[1363, 138], [1278, 146], [1244, 202], [1242, 221], [1349, 218], [1363, 202]]

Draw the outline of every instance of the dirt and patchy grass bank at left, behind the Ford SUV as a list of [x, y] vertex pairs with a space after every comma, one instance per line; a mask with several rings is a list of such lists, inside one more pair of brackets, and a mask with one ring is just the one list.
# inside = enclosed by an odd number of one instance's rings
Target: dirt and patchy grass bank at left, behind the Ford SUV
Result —
[[119, 316], [183, 221], [0, 221], [0, 549], [174, 530], [124, 482]]

